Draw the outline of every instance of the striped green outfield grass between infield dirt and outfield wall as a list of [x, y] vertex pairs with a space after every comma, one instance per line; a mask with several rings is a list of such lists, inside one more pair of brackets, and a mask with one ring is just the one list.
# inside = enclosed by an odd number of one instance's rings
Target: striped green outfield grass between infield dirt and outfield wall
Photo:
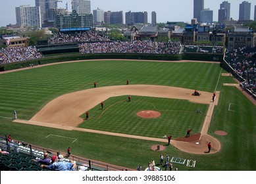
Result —
[[52, 99], [90, 89], [94, 81], [98, 87], [124, 85], [128, 79], [130, 84], [214, 91], [219, 71], [218, 64], [100, 60], [1, 74], [0, 116], [12, 117], [15, 109], [18, 118], [28, 120]]

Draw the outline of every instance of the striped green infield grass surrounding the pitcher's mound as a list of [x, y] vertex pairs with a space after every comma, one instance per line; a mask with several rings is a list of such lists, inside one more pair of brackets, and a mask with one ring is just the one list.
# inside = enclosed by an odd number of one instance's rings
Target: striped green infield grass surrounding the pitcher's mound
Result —
[[[85, 120], [79, 127], [161, 138], [172, 135], [172, 139], [184, 137], [187, 129], [199, 133], [205, 114], [197, 113], [197, 108], [207, 112], [208, 105], [195, 104], [177, 99], [127, 96], [112, 97], [104, 102], [104, 108], [95, 106], [90, 110], [90, 120]], [[141, 110], [161, 112], [158, 118], [141, 118], [137, 113]], [[82, 116], [85, 117], [85, 114]]]

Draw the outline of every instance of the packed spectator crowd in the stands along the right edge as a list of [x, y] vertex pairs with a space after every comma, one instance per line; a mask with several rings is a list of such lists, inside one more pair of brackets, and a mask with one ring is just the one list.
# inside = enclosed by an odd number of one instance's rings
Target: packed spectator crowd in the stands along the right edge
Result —
[[225, 60], [245, 81], [243, 88], [256, 95], [256, 49], [241, 47], [226, 51]]

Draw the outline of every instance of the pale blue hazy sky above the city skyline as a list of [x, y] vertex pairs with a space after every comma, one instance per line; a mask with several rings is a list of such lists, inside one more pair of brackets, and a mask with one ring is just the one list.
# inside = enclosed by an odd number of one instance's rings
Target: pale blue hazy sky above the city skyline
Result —
[[[205, 0], [205, 9], [213, 10], [213, 20], [218, 20], [218, 9], [224, 0]], [[230, 0], [230, 17], [238, 20], [239, 5], [243, 0]], [[251, 20], [254, 18], [255, 0], [247, 0], [251, 3]], [[71, 9], [71, 0], [59, 2], [58, 7]], [[35, 6], [35, 0], [0, 0], [0, 26], [16, 24], [15, 7], [20, 5]], [[147, 11], [148, 22], [151, 23], [151, 12], [157, 12], [157, 22], [182, 21], [190, 22], [193, 18], [193, 0], [91, 0], [91, 12], [99, 7], [104, 11], [142, 12]], [[125, 22], [124, 22], [125, 23]]]

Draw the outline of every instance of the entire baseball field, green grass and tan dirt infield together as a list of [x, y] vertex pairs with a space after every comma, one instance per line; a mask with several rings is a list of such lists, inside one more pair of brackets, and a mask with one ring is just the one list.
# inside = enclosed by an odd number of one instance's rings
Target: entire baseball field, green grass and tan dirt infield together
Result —
[[[142, 60], [87, 60], [2, 73], [0, 135], [63, 152], [70, 147], [74, 155], [131, 169], [147, 168], [152, 158], [158, 165], [159, 155], [168, 154], [195, 161], [195, 167], [174, 163], [179, 170], [256, 170], [255, 104], [225, 73], [218, 62]], [[192, 96], [195, 89], [201, 96]], [[160, 116], [149, 117], [151, 112]], [[170, 145], [165, 135], [172, 135]]]

